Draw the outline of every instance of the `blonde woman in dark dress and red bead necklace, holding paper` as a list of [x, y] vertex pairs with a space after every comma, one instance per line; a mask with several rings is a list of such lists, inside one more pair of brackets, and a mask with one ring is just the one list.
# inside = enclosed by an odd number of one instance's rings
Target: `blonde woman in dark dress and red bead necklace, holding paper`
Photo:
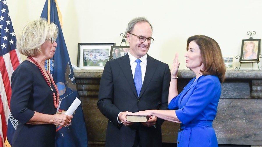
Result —
[[12, 147], [55, 147], [56, 126], [68, 126], [73, 116], [56, 114], [59, 91], [45, 61], [56, 51], [58, 28], [40, 18], [28, 22], [17, 37], [17, 49], [28, 58], [12, 74], [10, 108], [19, 121]]

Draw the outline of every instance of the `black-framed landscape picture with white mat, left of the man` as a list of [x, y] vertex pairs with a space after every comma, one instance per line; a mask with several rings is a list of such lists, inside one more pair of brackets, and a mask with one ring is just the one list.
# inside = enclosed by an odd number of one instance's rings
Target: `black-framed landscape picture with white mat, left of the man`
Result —
[[77, 66], [80, 69], [104, 69], [111, 46], [116, 43], [78, 43]]

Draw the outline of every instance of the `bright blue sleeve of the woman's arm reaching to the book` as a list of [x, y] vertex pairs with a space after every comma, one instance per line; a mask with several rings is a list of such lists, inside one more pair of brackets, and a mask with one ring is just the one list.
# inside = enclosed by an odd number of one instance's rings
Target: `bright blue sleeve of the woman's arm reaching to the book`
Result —
[[176, 110], [176, 116], [183, 123], [187, 124], [196, 118], [217, 94], [217, 82], [212, 78], [199, 80], [194, 92], [189, 97], [183, 108]]

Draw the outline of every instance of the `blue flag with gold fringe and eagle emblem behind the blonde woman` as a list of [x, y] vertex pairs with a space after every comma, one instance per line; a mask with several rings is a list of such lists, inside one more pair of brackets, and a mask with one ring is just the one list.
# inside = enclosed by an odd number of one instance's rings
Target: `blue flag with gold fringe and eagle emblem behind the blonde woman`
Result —
[[[59, 111], [66, 111], [75, 98], [79, 98], [79, 95], [61, 29], [59, 15], [61, 14], [56, 1], [46, 0], [41, 17], [47, 19], [49, 23], [54, 22], [59, 28], [58, 37], [56, 38], [56, 52], [48, 64], [50, 65], [50, 73], [59, 89], [61, 99]], [[63, 128], [59, 126], [56, 127], [56, 147], [86, 147], [88, 145], [81, 105], [77, 108], [73, 116], [70, 126]]]

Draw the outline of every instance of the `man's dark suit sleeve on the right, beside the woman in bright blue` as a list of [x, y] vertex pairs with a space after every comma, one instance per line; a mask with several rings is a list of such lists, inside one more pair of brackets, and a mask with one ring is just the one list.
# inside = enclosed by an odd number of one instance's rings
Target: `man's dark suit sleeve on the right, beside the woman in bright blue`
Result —
[[[169, 85], [171, 80], [171, 73], [168, 64], [165, 64], [165, 72], [163, 76], [163, 83], [162, 83], [162, 94], [161, 94], [161, 104], [159, 110], [167, 110], [168, 106], [168, 92], [169, 92]], [[157, 126], [161, 126], [164, 122], [163, 119], [157, 118]]]

